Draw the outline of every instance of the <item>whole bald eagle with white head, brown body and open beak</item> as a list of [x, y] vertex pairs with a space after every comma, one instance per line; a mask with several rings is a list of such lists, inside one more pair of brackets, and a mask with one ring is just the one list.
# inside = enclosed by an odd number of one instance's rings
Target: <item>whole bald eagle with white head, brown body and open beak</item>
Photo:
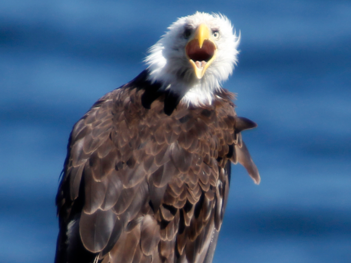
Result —
[[147, 68], [74, 125], [56, 204], [56, 263], [212, 262], [231, 162], [260, 176], [221, 88], [240, 36], [222, 15], [173, 23]]

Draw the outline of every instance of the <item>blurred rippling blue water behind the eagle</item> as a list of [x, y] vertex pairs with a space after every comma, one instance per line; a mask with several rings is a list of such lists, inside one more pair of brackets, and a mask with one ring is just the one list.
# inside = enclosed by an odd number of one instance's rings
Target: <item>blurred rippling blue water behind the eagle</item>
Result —
[[262, 177], [233, 167], [215, 262], [351, 262], [349, 1], [0, 3], [0, 261], [52, 262], [54, 198], [73, 124], [134, 78], [177, 17], [241, 31], [224, 84]]

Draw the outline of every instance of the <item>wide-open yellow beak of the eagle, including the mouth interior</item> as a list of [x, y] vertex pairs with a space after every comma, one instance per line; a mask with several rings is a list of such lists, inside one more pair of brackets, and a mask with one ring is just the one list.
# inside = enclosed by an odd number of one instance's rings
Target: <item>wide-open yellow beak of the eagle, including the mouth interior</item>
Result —
[[205, 24], [201, 24], [192, 39], [185, 47], [190, 64], [198, 79], [204, 77], [205, 71], [216, 57], [217, 47], [211, 40], [211, 32]]

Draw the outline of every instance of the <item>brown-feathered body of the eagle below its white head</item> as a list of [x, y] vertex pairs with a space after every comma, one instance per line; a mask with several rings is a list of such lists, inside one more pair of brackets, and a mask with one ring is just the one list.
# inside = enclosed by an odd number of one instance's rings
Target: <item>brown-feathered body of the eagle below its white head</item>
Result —
[[259, 181], [240, 134], [255, 124], [236, 116], [223, 89], [210, 106], [175, 103], [169, 115], [167, 97], [139, 76], [74, 126], [57, 194], [56, 263], [212, 262], [230, 161]]

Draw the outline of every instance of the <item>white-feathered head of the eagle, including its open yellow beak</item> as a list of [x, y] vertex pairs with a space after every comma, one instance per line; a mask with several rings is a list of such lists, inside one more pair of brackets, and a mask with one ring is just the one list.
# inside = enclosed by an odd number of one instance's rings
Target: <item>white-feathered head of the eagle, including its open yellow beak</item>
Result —
[[188, 104], [211, 104], [233, 72], [239, 41], [223, 15], [197, 12], [180, 18], [150, 48], [148, 78]]

